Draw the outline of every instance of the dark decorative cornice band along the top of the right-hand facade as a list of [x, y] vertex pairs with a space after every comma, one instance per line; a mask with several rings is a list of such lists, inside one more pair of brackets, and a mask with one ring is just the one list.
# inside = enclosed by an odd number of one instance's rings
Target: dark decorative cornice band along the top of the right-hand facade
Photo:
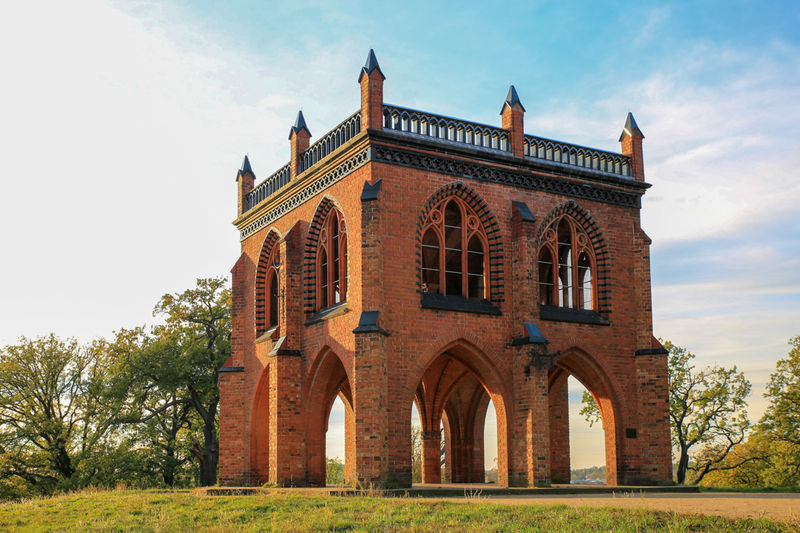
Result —
[[468, 163], [457, 159], [420, 154], [397, 148], [373, 146], [372, 161], [594, 200], [623, 207], [641, 208], [641, 195], [636, 193], [602, 187], [596, 184], [576, 183], [555, 176], [522, 174], [488, 165]]

